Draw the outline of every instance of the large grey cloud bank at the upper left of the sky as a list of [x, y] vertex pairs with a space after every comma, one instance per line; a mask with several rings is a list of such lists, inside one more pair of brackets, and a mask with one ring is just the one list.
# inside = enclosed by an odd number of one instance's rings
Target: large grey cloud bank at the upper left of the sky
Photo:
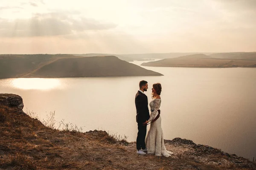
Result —
[[0, 19], [0, 37], [44, 37], [67, 35], [88, 30], [108, 30], [113, 23], [86, 17], [70, 17], [64, 13], [34, 14], [29, 19]]

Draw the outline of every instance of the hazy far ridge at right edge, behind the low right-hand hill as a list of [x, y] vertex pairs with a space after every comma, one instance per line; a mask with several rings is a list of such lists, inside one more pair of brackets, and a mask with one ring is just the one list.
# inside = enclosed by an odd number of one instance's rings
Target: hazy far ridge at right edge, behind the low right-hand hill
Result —
[[235, 53], [216, 53], [210, 54], [213, 58], [220, 59], [252, 59], [256, 60], [256, 52], [235, 52]]

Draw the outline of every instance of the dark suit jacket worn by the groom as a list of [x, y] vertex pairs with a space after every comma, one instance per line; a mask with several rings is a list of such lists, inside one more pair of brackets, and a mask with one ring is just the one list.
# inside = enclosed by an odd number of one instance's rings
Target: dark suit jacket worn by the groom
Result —
[[141, 93], [137, 92], [135, 96], [135, 106], [136, 106], [136, 122], [143, 123], [149, 119], [149, 111], [148, 111], [148, 97]]

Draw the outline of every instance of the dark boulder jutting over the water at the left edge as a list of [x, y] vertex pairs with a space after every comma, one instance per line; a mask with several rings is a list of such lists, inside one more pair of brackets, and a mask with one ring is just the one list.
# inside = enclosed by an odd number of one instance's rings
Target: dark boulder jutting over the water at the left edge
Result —
[[17, 94], [0, 94], [0, 108], [3, 106], [22, 111], [23, 99]]

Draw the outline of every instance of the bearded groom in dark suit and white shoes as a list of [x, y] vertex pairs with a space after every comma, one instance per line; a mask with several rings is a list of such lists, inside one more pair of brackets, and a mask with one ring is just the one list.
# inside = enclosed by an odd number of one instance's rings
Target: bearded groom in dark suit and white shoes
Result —
[[[148, 89], [148, 82], [145, 80], [140, 81], [140, 90], [135, 96], [135, 106], [136, 106], [136, 122], [138, 123], [138, 135], [137, 135], [137, 154], [144, 155], [147, 152], [145, 137], [147, 133], [146, 121], [149, 119], [148, 111], [148, 97], [144, 94], [144, 91]], [[143, 125], [144, 123], [144, 125]]]

